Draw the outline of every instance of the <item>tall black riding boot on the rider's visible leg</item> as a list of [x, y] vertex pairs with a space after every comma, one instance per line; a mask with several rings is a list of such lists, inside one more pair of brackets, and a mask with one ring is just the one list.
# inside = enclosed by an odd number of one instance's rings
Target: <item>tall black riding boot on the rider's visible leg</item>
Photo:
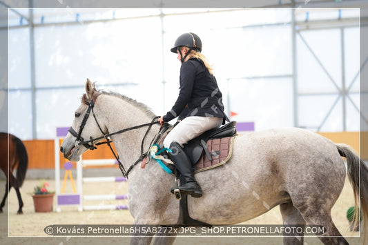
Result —
[[177, 170], [182, 174], [184, 183], [180, 183], [180, 186], [174, 186], [171, 188], [171, 193], [174, 193], [175, 189], [179, 189], [182, 195], [191, 195], [192, 197], [202, 197], [202, 189], [200, 185], [195, 181], [193, 166], [191, 159], [186, 155], [182, 146], [177, 142], [173, 142], [170, 145], [170, 149], [173, 153], [168, 153], [171, 159], [174, 160]]

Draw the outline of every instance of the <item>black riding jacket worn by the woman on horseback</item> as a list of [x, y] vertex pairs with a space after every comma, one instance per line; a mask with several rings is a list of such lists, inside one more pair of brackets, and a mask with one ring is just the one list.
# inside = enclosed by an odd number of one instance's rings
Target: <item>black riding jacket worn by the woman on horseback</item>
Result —
[[[187, 115], [180, 115], [188, 107]], [[188, 116], [229, 118], [224, 112], [222, 93], [217, 81], [209, 73], [200, 59], [191, 58], [182, 63], [180, 68], [180, 92], [164, 121], [171, 121], [180, 115], [180, 119]]]

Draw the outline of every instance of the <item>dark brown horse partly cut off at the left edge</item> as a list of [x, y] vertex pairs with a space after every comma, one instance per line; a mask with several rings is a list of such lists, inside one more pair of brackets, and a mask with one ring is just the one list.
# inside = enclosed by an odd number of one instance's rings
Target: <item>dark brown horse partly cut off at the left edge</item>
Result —
[[[7, 179], [5, 195], [0, 204], [0, 213], [3, 213], [6, 197], [8, 197], [8, 193], [12, 187], [14, 187], [17, 192], [19, 202], [17, 213], [23, 213], [21, 210], [23, 207], [23, 200], [21, 199], [19, 187], [22, 186], [24, 178], [26, 177], [27, 166], [28, 155], [23, 142], [14, 135], [0, 133], [0, 168], [3, 170], [3, 173], [5, 173]], [[17, 168], [16, 177], [12, 174], [14, 168]]]

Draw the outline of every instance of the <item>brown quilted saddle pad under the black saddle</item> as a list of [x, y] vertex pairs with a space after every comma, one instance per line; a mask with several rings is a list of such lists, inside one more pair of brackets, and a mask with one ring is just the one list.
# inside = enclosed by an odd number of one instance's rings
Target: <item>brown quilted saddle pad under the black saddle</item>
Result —
[[202, 172], [211, 168], [216, 168], [229, 161], [231, 154], [233, 153], [233, 141], [235, 137], [225, 137], [221, 139], [209, 139], [207, 141], [207, 149], [211, 154], [212, 160], [210, 160], [206, 153], [202, 153], [202, 156], [194, 166], [195, 173]]

